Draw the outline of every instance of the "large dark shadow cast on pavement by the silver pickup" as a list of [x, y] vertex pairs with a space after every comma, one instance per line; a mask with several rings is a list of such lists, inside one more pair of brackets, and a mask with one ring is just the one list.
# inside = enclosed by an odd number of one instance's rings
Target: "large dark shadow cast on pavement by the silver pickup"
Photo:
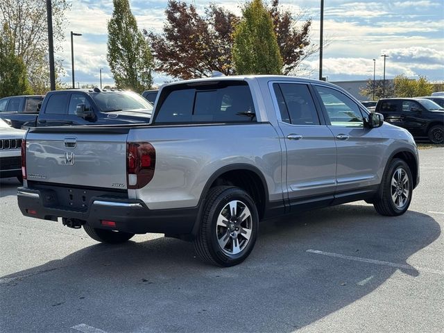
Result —
[[406, 265], [441, 233], [425, 214], [385, 218], [365, 205], [260, 226], [255, 250], [232, 268], [207, 266], [192, 244], [160, 238], [97, 244], [3, 276], [2, 330], [73, 332], [69, 327], [87, 323], [106, 332], [291, 332], [366, 296], [397, 271], [307, 250]]

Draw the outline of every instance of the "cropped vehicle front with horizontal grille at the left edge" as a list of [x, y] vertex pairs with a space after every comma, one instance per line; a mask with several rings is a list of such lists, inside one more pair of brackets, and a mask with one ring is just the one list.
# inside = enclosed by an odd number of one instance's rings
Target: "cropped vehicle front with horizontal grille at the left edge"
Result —
[[0, 178], [22, 181], [22, 139], [26, 131], [11, 128], [0, 119]]

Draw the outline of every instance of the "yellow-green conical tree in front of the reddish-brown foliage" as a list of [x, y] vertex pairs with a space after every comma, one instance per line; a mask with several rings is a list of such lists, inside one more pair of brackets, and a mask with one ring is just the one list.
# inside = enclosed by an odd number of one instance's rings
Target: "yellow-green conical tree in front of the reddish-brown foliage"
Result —
[[282, 56], [271, 15], [262, 0], [247, 3], [234, 31], [233, 61], [237, 74], [281, 74]]

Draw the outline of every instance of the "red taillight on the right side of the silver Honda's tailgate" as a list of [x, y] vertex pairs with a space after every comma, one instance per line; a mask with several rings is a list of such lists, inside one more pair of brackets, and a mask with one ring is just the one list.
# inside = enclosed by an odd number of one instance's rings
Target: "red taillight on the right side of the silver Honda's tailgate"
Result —
[[141, 189], [153, 179], [155, 149], [148, 142], [126, 144], [126, 181], [128, 189]]

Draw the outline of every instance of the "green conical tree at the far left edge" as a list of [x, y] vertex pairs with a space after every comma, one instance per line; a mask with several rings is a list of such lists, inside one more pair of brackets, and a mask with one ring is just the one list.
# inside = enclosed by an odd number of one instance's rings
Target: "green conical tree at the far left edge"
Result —
[[0, 99], [29, 94], [31, 88], [26, 78], [26, 67], [22, 58], [15, 55], [12, 32], [8, 24], [3, 24], [0, 34]]

